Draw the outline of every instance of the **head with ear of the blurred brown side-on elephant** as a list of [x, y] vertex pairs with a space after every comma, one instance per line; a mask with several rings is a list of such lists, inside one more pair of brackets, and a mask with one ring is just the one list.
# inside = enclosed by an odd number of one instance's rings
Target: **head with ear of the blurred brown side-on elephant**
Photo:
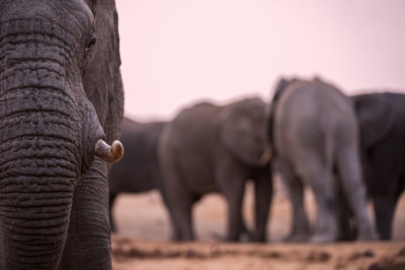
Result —
[[266, 104], [259, 98], [230, 104], [220, 115], [220, 137], [228, 150], [249, 166], [264, 167], [270, 152], [265, 137]]

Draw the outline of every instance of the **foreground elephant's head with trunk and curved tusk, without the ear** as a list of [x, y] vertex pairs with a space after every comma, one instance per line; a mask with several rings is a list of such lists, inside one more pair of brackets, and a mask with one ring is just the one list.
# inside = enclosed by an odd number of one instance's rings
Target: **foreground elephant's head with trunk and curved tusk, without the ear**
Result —
[[94, 157], [117, 161], [83, 78], [95, 1], [0, 0], [1, 268], [56, 268], [73, 190]]

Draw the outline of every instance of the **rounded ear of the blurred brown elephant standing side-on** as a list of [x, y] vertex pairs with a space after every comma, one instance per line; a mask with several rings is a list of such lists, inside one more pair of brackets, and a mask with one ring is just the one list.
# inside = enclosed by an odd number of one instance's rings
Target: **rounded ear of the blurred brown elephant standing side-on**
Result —
[[233, 108], [221, 117], [221, 141], [235, 158], [249, 166], [261, 166], [265, 149], [264, 107], [255, 113], [256, 117]]

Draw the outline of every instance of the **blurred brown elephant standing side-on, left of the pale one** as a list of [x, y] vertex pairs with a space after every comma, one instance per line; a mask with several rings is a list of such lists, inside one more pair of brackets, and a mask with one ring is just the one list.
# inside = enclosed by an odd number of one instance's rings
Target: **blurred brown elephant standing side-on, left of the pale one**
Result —
[[227, 106], [197, 104], [180, 112], [159, 139], [173, 239], [194, 240], [191, 208], [203, 195], [220, 191], [228, 203], [228, 241], [246, 227], [241, 215], [245, 184], [255, 182], [256, 229], [252, 241], [265, 241], [272, 180], [265, 149], [265, 103], [246, 99]]

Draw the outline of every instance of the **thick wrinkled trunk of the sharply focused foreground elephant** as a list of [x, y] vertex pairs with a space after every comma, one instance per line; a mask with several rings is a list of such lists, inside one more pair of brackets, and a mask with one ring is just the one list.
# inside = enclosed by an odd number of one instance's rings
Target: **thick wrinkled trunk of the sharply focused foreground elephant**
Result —
[[1, 92], [0, 268], [54, 269], [82, 163], [72, 104], [44, 85]]

